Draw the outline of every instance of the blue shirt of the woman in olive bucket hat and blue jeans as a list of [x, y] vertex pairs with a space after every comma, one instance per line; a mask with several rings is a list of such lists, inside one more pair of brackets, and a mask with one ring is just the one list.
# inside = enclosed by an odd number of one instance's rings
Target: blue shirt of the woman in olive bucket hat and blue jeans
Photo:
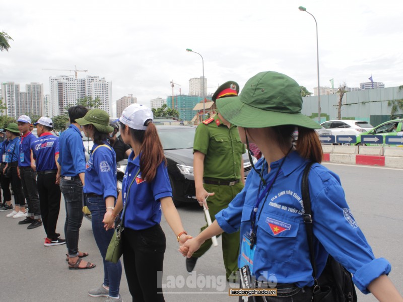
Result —
[[[109, 146], [108, 142], [104, 142]], [[104, 199], [108, 196], [117, 197], [116, 191], [116, 154], [112, 147], [94, 144], [92, 152], [86, 164], [84, 193], [101, 195]]]

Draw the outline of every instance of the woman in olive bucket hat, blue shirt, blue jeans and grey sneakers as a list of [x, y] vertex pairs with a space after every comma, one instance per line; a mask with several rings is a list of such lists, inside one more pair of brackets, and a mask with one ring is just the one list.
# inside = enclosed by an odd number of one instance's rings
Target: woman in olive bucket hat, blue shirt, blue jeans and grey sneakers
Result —
[[83, 118], [76, 120], [82, 125], [85, 136], [94, 142], [90, 158], [86, 165], [84, 198], [91, 211], [92, 231], [104, 265], [104, 279], [101, 286], [91, 289], [88, 294], [93, 297], [105, 296], [106, 302], [121, 302], [119, 294], [122, 264], [120, 260], [112, 263], [105, 260], [106, 250], [113, 237], [114, 230], [105, 230], [106, 212], [115, 208], [116, 191], [116, 155], [108, 143], [109, 115], [101, 109], [92, 109]]

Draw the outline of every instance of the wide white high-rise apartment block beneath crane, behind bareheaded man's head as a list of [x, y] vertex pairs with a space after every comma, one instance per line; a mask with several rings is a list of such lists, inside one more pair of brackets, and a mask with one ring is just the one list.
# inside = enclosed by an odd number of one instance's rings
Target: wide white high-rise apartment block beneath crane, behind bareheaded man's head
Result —
[[60, 75], [49, 77], [49, 84], [52, 116], [64, 114], [66, 108], [86, 96], [99, 98], [99, 108], [112, 114], [112, 83], [105, 78], [87, 75], [85, 79], [75, 79], [72, 75]]

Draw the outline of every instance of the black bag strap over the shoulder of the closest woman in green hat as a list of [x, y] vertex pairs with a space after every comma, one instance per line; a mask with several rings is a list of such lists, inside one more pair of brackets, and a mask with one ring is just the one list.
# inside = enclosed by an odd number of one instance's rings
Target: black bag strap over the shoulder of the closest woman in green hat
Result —
[[317, 290], [320, 290], [320, 286], [318, 284], [318, 280], [316, 277], [317, 270], [316, 270], [316, 263], [315, 263], [315, 250], [313, 247], [313, 227], [312, 227], [312, 209], [311, 209], [311, 198], [309, 194], [309, 181], [308, 176], [311, 170], [312, 165], [314, 162], [310, 162], [306, 165], [304, 169], [304, 174], [302, 175], [301, 181], [301, 192], [302, 192], [302, 202], [304, 204], [304, 222], [305, 222], [305, 229], [306, 229], [306, 236], [308, 238], [308, 247], [309, 247], [309, 260], [311, 261], [312, 265], [312, 276], [313, 276], [313, 293]]

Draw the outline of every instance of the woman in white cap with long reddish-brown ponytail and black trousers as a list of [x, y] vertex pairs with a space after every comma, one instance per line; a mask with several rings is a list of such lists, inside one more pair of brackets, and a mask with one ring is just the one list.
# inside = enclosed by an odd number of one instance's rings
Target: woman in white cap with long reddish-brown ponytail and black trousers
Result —
[[114, 216], [125, 205], [123, 264], [133, 301], [164, 301], [158, 285], [165, 252], [165, 234], [160, 226], [162, 212], [180, 245], [189, 236], [172, 201], [166, 159], [153, 124], [153, 112], [146, 106], [133, 104], [123, 110], [119, 122], [120, 135], [133, 152], [128, 158], [116, 206], [105, 215], [105, 227], [113, 225]]

